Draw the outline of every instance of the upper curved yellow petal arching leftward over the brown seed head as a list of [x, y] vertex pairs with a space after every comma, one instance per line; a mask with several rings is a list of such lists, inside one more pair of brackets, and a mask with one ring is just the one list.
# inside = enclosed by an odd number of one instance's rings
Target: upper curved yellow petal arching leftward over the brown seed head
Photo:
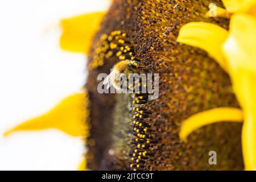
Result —
[[228, 37], [228, 31], [215, 24], [192, 22], [181, 29], [177, 42], [204, 49], [228, 72], [221, 46]]

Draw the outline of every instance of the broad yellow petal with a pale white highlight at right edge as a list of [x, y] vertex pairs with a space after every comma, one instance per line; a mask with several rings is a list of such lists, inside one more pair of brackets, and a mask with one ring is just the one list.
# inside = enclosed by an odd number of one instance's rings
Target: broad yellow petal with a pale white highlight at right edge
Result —
[[235, 14], [230, 21], [230, 34], [223, 51], [229, 67], [256, 72], [256, 18], [246, 14]]

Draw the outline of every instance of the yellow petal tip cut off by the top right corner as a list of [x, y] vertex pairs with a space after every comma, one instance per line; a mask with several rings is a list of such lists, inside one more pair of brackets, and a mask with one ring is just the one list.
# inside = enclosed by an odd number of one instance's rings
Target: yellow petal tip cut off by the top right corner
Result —
[[242, 13], [256, 5], [255, 0], [222, 0], [226, 9], [231, 13]]

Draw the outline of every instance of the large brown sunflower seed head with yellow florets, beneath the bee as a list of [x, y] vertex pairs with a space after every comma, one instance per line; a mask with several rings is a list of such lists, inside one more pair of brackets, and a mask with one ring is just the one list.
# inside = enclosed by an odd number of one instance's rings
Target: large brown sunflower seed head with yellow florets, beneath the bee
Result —
[[[190, 135], [188, 143], [179, 139], [185, 118], [214, 107], [238, 106], [229, 76], [212, 57], [176, 42], [180, 28], [191, 21], [228, 29], [227, 19], [205, 16], [209, 3], [113, 2], [89, 54], [90, 169], [242, 169], [241, 146], [236, 144], [241, 140], [240, 123], [207, 126]], [[221, 1], [216, 3], [222, 6]], [[131, 55], [124, 51], [126, 46]], [[131, 56], [145, 65], [131, 72], [159, 73], [157, 100], [97, 92], [97, 75], [109, 74], [122, 57]], [[210, 150], [217, 151], [217, 166], [208, 164]]]

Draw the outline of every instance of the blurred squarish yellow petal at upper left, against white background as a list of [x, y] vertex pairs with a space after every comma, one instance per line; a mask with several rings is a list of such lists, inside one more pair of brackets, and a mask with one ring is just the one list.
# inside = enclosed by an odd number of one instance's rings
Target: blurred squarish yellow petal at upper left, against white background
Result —
[[88, 53], [104, 15], [105, 12], [96, 12], [61, 20], [60, 47], [66, 51]]

